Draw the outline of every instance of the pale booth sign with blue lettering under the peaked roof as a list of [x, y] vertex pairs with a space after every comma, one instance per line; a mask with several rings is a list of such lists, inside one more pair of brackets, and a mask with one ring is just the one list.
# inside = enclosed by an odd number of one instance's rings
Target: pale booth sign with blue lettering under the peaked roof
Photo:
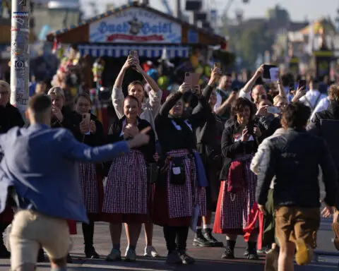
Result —
[[90, 23], [90, 42], [181, 43], [182, 25], [133, 7]]

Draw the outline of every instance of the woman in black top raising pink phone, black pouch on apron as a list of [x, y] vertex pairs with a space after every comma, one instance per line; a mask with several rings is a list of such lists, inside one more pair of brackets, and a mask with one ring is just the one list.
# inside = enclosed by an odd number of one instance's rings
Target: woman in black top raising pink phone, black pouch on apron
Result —
[[[185, 83], [167, 97], [155, 119], [162, 148], [160, 177], [155, 183], [153, 221], [163, 227], [169, 264], [190, 264], [194, 258], [186, 253], [191, 218], [206, 215], [205, 183], [199, 176], [205, 171], [197, 152], [194, 128], [206, 119], [208, 104], [199, 97], [198, 110], [188, 119], [183, 116], [182, 96], [194, 95]], [[201, 102], [205, 101], [205, 107]], [[199, 166], [199, 167], [198, 167]], [[196, 221], [197, 222], [197, 221]], [[195, 225], [196, 226], [196, 225]]]

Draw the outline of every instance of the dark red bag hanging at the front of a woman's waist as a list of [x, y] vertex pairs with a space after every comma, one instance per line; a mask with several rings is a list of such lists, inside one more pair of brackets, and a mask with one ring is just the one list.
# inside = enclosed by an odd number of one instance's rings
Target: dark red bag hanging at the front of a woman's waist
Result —
[[227, 192], [237, 193], [244, 189], [245, 172], [244, 164], [239, 161], [233, 161], [230, 164], [227, 178]]

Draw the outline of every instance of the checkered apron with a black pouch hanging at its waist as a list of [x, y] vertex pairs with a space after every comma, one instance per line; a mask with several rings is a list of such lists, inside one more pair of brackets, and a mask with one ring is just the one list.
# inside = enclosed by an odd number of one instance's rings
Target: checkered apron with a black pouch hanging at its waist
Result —
[[193, 206], [196, 204], [200, 206], [201, 215], [206, 215], [206, 192], [204, 187], [198, 186], [198, 175], [194, 157], [188, 150], [172, 150], [167, 152], [167, 155], [172, 157], [186, 157], [184, 159], [186, 174], [186, 183], [184, 185], [170, 183], [172, 162], [169, 161], [169, 169], [167, 171], [167, 204], [169, 218], [191, 217]]

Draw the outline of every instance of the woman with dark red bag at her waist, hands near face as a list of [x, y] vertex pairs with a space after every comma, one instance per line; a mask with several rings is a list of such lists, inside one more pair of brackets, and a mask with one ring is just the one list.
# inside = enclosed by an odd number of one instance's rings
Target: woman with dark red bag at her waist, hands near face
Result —
[[215, 213], [213, 232], [226, 235], [226, 249], [222, 258], [234, 258], [237, 235], [249, 234], [244, 253], [250, 260], [258, 259], [256, 240], [258, 222], [255, 217], [256, 175], [250, 170], [251, 159], [261, 138], [254, 118], [253, 104], [238, 98], [233, 105], [234, 122], [222, 133], [222, 156], [225, 162], [220, 174], [222, 180]]

